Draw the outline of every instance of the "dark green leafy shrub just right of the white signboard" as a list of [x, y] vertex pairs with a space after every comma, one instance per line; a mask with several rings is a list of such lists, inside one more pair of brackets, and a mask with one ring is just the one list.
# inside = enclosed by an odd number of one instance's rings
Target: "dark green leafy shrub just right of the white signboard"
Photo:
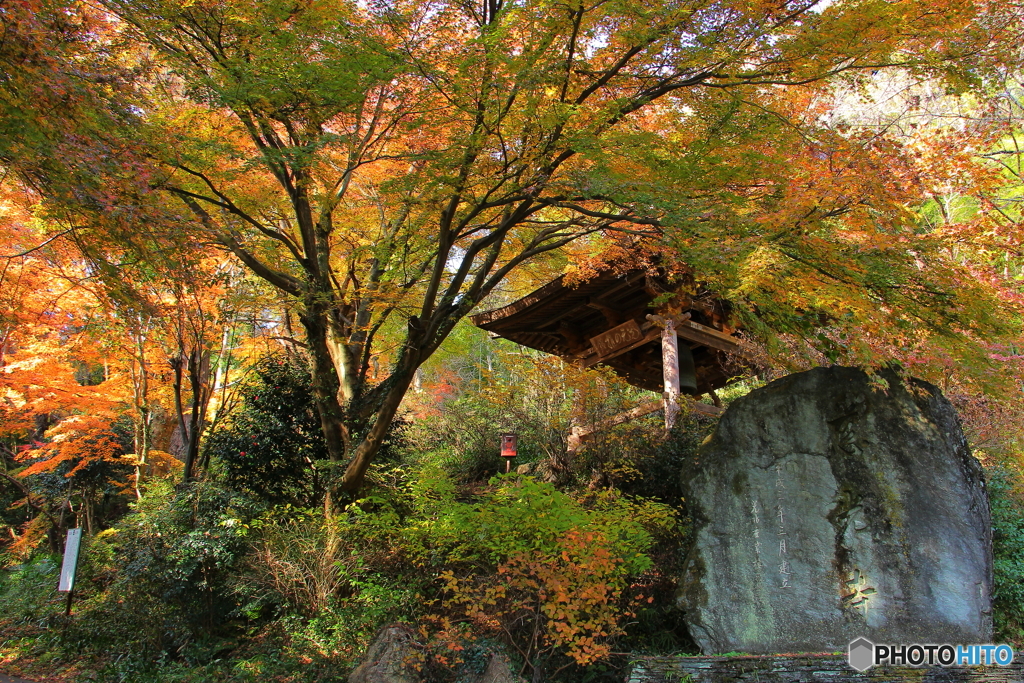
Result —
[[124, 680], [161, 661], [217, 658], [238, 629], [228, 580], [255, 512], [249, 499], [210, 483], [152, 483], [134, 512], [86, 539], [75, 617], [47, 637], [66, 656], [109, 659]]

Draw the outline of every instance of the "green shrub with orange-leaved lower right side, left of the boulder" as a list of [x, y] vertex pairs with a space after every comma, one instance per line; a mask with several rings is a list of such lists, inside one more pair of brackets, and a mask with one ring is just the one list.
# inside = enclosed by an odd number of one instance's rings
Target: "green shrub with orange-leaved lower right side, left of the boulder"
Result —
[[472, 625], [536, 672], [608, 656], [641, 597], [632, 580], [651, 567], [647, 553], [675, 526], [674, 511], [611, 489], [575, 500], [517, 475], [496, 477], [475, 500], [457, 495], [443, 475], [423, 477], [407, 530], [410, 559], [443, 582], [441, 636], [457, 642], [460, 624]]

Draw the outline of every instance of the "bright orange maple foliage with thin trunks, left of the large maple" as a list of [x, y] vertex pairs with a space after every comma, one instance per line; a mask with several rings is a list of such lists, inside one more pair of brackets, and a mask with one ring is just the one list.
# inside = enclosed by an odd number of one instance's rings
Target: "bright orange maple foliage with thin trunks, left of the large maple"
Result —
[[[127, 495], [141, 497], [144, 479], [191, 478], [208, 409], [228, 402], [229, 369], [266, 348], [227, 348], [247, 312], [223, 291], [239, 284], [231, 272], [200, 269], [168, 288], [123, 267], [110, 287], [95, 276], [101, 262], [74, 242], [43, 239], [47, 219], [31, 190], [2, 190], [0, 476], [28, 513], [11, 524], [6, 549], [22, 557], [43, 537], [59, 550], [61, 530], [76, 522], [95, 532], [124, 512]], [[217, 315], [220, 306], [233, 310]], [[185, 354], [203, 365], [178, 364]]]

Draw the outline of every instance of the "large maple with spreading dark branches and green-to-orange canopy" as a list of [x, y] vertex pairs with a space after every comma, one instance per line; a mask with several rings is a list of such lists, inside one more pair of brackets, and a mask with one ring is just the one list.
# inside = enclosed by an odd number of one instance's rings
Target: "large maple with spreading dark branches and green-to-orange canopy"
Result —
[[529, 268], [585, 276], [637, 238], [664, 239], [644, 249], [697, 268], [769, 342], [864, 359], [884, 344], [854, 329], [890, 345], [1008, 329], [992, 288], [915, 232], [907, 147], [822, 118], [858, 74], [961, 89], [997, 75], [1013, 5], [102, 6], [83, 16], [137, 76], [118, 93], [75, 82], [102, 134], [75, 138], [81, 172], [60, 185], [88, 201], [51, 194], [87, 218], [82, 239], [148, 259], [212, 243], [292, 300], [328, 510], [357, 494], [417, 369], [474, 306]]

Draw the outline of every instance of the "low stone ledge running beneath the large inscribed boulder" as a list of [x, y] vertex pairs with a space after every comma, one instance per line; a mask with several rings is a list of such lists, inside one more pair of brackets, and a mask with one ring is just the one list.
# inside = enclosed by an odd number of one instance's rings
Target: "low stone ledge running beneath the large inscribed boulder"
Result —
[[640, 657], [627, 683], [1024, 683], [1009, 667], [871, 667], [858, 673], [836, 655]]

